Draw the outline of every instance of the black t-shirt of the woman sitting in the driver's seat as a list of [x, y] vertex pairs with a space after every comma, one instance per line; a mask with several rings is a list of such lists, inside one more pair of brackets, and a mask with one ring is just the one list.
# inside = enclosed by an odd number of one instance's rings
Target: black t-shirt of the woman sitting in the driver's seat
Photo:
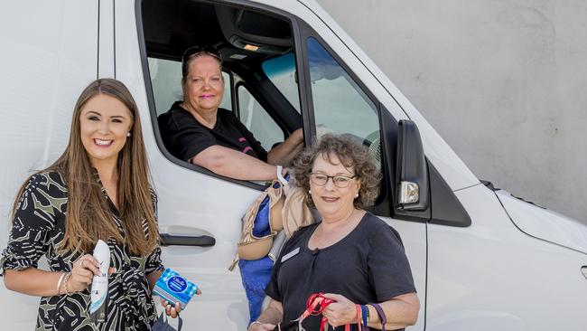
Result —
[[219, 145], [241, 151], [262, 161], [267, 160], [266, 150], [232, 111], [218, 109], [216, 125], [214, 128], [207, 128], [188, 110], [182, 109], [181, 103], [175, 102], [172, 109], [158, 118], [163, 144], [173, 156], [189, 161], [204, 149]]

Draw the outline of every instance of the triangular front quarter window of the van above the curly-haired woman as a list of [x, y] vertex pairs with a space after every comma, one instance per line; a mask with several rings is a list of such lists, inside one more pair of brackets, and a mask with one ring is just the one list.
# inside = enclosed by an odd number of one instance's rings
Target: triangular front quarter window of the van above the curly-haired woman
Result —
[[308, 38], [307, 54], [318, 136], [333, 132], [356, 137], [370, 148], [380, 165], [375, 103], [315, 38]]

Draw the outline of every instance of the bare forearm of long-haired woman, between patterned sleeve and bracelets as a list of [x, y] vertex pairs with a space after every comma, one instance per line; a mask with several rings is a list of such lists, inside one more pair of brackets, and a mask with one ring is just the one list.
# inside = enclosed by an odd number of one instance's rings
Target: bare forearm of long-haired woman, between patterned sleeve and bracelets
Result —
[[65, 293], [64, 280], [57, 284], [63, 272], [39, 270], [33, 267], [25, 270], [5, 270], [5, 286], [10, 290], [35, 297], [51, 297]]

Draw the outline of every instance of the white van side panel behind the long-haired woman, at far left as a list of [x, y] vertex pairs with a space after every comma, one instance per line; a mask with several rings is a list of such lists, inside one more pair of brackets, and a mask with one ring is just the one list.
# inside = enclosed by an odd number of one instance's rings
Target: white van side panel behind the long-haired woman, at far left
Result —
[[[0, 10], [0, 250], [14, 195], [61, 155], [81, 90], [97, 77], [98, 0], [11, 1]], [[0, 285], [0, 329], [33, 329], [39, 298]]]

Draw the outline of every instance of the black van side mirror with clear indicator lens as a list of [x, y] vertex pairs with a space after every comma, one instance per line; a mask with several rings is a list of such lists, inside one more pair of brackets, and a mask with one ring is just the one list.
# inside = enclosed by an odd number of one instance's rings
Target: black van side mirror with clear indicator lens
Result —
[[428, 167], [420, 131], [411, 120], [397, 128], [396, 208], [423, 211], [429, 203]]

